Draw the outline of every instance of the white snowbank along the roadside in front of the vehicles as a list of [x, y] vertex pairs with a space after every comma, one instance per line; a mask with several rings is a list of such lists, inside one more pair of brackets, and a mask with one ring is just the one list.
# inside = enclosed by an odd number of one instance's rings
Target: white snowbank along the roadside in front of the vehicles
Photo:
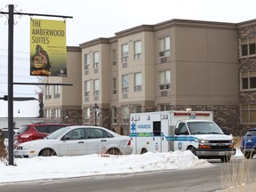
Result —
[[[236, 150], [236, 156], [243, 156]], [[14, 159], [17, 166], [0, 162], [0, 184], [14, 181], [49, 180], [89, 175], [185, 170], [211, 167], [207, 160], [198, 159], [190, 151], [146, 153], [130, 156], [51, 156]]]

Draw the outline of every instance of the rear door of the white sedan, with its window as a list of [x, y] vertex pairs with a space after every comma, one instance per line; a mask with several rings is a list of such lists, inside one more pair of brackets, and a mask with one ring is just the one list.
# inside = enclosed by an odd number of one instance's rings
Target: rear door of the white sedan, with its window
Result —
[[111, 138], [100, 128], [86, 128], [87, 154], [106, 153]]

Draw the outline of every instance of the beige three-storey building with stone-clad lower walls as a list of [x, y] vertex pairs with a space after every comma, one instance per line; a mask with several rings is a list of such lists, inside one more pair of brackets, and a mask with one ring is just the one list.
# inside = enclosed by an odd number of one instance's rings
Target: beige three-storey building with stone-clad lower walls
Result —
[[68, 47], [68, 77], [44, 82], [73, 86], [45, 86], [44, 118], [94, 124], [97, 103], [97, 124], [129, 134], [132, 112], [192, 108], [213, 111], [220, 127], [239, 134], [253, 124], [246, 122], [252, 116], [246, 106], [256, 100], [253, 90], [241, 89], [246, 79], [240, 74], [247, 79], [256, 74], [248, 72], [255, 68], [255, 48], [254, 55], [241, 53], [244, 44], [252, 49], [252, 41], [241, 38], [256, 36], [255, 26], [255, 20], [168, 20]]

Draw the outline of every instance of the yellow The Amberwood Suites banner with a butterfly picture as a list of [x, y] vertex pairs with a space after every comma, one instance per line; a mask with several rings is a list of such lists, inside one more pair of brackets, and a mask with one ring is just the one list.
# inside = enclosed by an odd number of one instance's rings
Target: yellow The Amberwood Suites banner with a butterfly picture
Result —
[[67, 76], [66, 21], [30, 20], [30, 76]]

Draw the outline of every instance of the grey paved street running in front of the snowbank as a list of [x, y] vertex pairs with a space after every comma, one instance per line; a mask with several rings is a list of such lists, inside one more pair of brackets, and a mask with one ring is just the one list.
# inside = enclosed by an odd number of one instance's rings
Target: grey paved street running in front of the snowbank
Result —
[[[41, 180], [40, 182], [20, 182], [1, 185], [1, 192], [120, 192], [120, 191], [217, 191], [232, 181], [236, 173], [249, 177], [256, 175], [255, 159], [234, 158], [228, 164], [219, 160], [209, 160], [215, 166], [184, 171], [158, 171], [112, 174], [71, 178], [64, 180]], [[244, 167], [244, 172], [241, 168]], [[247, 176], [246, 176], [247, 175]], [[249, 175], [249, 176], [248, 176]], [[251, 180], [255, 180], [252, 176]], [[233, 178], [234, 179], [234, 178]], [[246, 178], [245, 178], [246, 179]], [[238, 180], [239, 181], [239, 180]], [[224, 182], [224, 184], [222, 184]], [[226, 184], [225, 184], [226, 182]], [[251, 181], [252, 182], [252, 181]], [[225, 185], [225, 186], [223, 186]]]

